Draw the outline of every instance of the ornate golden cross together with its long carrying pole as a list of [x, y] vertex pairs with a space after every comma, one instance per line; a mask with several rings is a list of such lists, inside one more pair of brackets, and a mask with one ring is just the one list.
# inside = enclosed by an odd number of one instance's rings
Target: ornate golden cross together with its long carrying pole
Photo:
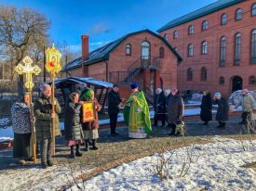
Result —
[[34, 87], [33, 83], [33, 75], [38, 75], [41, 71], [41, 69], [34, 65], [32, 65], [33, 60], [26, 56], [22, 59], [22, 62], [25, 64], [24, 66], [21, 64], [18, 64], [18, 66], [15, 68], [15, 70], [20, 74], [25, 75], [25, 83], [24, 86], [28, 89], [29, 95], [30, 95], [30, 119], [31, 119], [31, 136], [32, 136], [32, 146], [33, 146], [33, 157], [34, 157], [34, 164], [36, 164], [36, 138], [35, 138], [35, 127], [34, 127], [34, 108], [32, 103], [32, 90]]

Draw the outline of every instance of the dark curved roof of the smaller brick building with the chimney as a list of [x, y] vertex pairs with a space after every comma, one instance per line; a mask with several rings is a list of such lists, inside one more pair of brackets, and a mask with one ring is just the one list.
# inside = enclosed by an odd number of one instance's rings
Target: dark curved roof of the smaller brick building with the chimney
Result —
[[[100, 48], [93, 50], [92, 52], [89, 53], [89, 57], [88, 60], [86, 60], [84, 62], [84, 64], [86, 65], [91, 65], [93, 63], [97, 63], [100, 62], [102, 60], [107, 60], [109, 59], [109, 54], [118, 46], [120, 45], [124, 40], [126, 40], [129, 36], [141, 33], [141, 32], [149, 32], [153, 35], [155, 35], [155, 37], [159, 38], [160, 40], [162, 40], [167, 46], [168, 48], [174, 53], [174, 55], [178, 58], [178, 61], [181, 62], [182, 61], [182, 57], [177, 53], [177, 51], [168, 44], [168, 42], [166, 41], [165, 38], [163, 38], [162, 36], [160, 36], [159, 34], [152, 32], [148, 29], [146, 30], [142, 30], [140, 32], [132, 32], [132, 33], [128, 33], [127, 35], [107, 44], [107, 45], [103, 45]], [[73, 61], [67, 63], [63, 69], [61, 71], [66, 71], [66, 70], [72, 70], [75, 68], [79, 68], [82, 66], [82, 57], [78, 57], [76, 59], [74, 59]]]

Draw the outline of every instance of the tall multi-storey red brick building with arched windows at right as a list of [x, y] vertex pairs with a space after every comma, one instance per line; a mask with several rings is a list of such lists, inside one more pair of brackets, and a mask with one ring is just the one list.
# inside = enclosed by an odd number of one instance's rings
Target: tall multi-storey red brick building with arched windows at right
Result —
[[178, 88], [227, 96], [256, 89], [256, 0], [221, 0], [157, 32], [182, 56]]

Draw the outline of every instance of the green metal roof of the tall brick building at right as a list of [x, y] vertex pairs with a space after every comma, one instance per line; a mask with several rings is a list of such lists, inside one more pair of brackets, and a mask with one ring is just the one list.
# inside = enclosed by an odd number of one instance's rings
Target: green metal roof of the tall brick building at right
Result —
[[204, 6], [202, 8], [199, 8], [199, 9], [187, 14], [187, 15], [184, 15], [181, 18], [177, 18], [177, 19], [173, 19], [173, 20], [169, 21], [166, 25], [164, 25], [159, 30], [157, 30], [157, 32], [163, 32], [170, 28], [176, 27], [178, 25], [181, 25], [183, 23], [189, 22], [194, 19], [201, 18], [203, 16], [209, 15], [210, 13], [221, 10], [228, 6], [233, 6], [233, 5], [241, 3], [243, 1], [245, 1], [245, 0], [219, 0], [215, 3], [209, 4], [208, 6]]

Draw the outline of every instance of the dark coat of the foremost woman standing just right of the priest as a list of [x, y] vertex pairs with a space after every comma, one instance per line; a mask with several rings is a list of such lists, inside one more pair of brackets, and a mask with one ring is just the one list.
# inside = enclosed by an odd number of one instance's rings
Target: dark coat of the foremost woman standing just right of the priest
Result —
[[168, 123], [181, 121], [184, 111], [183, 99], [181, 96], [169, 96], [168, 99]]

